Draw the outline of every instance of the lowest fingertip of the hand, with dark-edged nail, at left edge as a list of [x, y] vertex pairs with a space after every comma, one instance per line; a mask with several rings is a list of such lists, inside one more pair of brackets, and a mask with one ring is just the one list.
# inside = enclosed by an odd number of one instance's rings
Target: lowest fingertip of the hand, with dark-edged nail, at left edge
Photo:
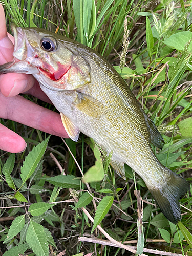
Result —
[[27, 144], [18, 134], [0, 124], [0, 148], [11, 153], [23, 152]]

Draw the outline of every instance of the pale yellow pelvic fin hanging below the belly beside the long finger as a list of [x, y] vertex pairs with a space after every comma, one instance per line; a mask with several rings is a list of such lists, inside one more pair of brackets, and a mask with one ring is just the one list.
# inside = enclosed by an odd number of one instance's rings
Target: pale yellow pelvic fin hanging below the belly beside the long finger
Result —
[[78, 127], [74, 123], [72, 123], [72, 121], [68, 117], [63, 115], [61, 112], [60, 112], [60, 116], [61, 116], [62, 124], [63, 124], [67, 134], [69, 135], [70, 139], [77, 142], [77, 140], [79, 138]]

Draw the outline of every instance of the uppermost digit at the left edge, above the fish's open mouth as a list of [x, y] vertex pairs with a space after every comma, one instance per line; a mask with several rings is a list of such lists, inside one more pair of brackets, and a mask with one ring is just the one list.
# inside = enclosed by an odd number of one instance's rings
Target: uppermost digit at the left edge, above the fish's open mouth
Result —
[[0, 17], [1, 17], [1, 29], [0, 29], [0, 65], [11, 61], [13, 58], [14, 46], [7, 35], [7, 28], [5, 22], [5, 14], [3, 6], [0, 4]]

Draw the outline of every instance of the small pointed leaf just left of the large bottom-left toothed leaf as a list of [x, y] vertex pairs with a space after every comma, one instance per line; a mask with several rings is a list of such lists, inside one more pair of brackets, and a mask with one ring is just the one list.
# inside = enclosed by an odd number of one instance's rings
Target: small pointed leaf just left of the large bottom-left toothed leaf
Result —
[[7, 238], [4, 241], [4, 243], [6, 243], [8, 240], [16, 236], [23, 229], [24, 224], [25, 224], [25, 214], [16, 217], [9, 228], [9, 232], [7, 234]]

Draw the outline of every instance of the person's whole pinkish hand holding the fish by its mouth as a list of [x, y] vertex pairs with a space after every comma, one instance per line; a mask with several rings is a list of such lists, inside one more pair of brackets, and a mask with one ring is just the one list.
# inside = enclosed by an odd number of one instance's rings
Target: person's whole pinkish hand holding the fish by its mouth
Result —
[[[14, 37], [7, 33], [4, 9], [0, 4], [0, 65], [11, 61]], [[31, 94], [45, 102], [49, 98], [39, 87], [32, 75], [0, 75], [0, 118], [13, 120], [49, 134], [69, 138], [63, 128], [60, 115], [18, 95]], [[12, 153], [23, 152], [25, 140], [0, 123], [0, 149]]]

